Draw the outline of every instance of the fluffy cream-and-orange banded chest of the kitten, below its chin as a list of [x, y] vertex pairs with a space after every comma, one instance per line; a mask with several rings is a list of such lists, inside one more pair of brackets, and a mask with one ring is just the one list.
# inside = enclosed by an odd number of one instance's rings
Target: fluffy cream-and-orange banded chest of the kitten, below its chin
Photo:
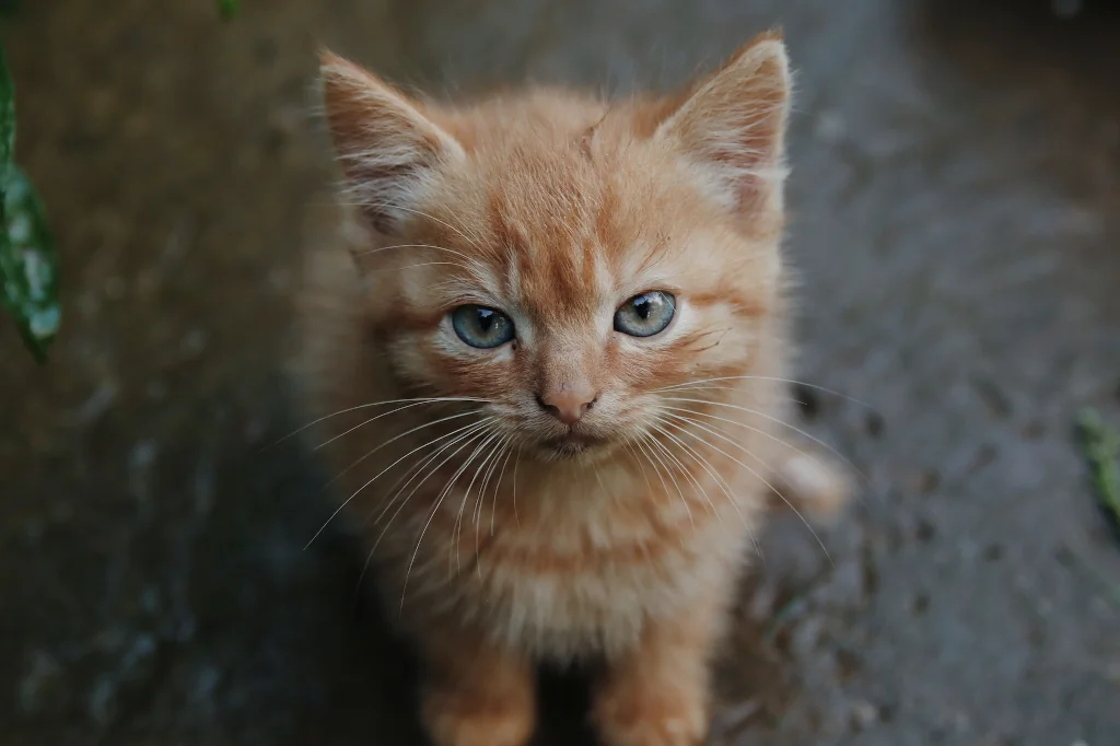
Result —
[[647, 619], [726, 582], [741, 553], [741, 511], [678, 496], [502, 522], [463, 576], [463, 600], [493, 636], [540, 655], [622, 650]]

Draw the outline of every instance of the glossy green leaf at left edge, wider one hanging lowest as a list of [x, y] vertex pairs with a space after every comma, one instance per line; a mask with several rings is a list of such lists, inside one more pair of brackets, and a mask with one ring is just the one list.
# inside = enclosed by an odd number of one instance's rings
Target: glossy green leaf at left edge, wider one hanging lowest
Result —
[[58, 255], [43, 204], [31, 181], [8, 166], [0, 233], [0, 300], [16, 319], [24, 342], [44, 362], [62, 321]]

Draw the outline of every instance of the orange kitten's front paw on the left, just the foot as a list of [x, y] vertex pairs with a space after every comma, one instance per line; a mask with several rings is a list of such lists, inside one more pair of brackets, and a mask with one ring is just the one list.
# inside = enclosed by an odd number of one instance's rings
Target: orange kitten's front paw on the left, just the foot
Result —
[[531, 691], [431, 689], [423, 722], [436, 746], [525, 746], [535, 725]]

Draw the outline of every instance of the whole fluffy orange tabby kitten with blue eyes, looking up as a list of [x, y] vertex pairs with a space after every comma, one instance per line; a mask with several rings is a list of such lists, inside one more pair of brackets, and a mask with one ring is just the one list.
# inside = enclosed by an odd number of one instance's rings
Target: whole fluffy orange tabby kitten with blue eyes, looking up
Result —
[[781, 476], [781, 38], [661, 100], [450, 106], [332, 54], [323, 77], [354, 209], [299, 362], [429, 734], [521, 746], [534, 663], [594, 658], [608, 746], [700, 743]]

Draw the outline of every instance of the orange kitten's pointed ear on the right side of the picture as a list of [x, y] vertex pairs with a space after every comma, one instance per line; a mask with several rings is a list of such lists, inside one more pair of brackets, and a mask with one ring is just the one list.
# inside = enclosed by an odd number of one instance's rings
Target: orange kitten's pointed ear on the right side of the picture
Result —
[[781, 207], [790, 63], [780, 34], [741, 47], [657, 127], [683, 150], [708, 196], [746, 214]]

